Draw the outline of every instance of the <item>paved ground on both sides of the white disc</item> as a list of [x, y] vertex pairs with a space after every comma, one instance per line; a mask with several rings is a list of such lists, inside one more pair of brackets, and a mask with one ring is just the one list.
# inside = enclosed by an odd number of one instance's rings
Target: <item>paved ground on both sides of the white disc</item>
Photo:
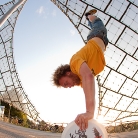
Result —
[[[61, 133], [51, 133], [0, 121], [0, 138], [61, 138]], [[108, 138], [138, 138], [138, 130], [108, 134]]]

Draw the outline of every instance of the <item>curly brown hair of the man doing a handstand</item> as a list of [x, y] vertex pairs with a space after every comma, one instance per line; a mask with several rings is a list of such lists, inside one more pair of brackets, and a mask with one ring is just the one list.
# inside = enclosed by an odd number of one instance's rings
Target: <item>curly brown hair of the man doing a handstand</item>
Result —
[[70, 69], [70, 65], [69, 64], [65, 64], [65, 65], [60, 65], [55, 72], [52, 75], [52, 81], [53, 84], [56, 85], [57, 87], [60, 87], [59, 84], [59, 79], [63, 76], [66, 75], [66, 72], [71, 71]]

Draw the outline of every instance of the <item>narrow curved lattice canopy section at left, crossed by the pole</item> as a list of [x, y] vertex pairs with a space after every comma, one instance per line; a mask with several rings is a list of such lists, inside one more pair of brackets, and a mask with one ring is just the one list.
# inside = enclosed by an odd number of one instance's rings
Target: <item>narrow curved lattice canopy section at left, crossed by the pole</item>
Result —
[[20, 1], [13, 0], [0, 5], [0, 100], [23, 111], [31, 119], [37, 120], [39, 113], [22, 87], [13, 57], [14, 27], [26, 3], [26, 0]]

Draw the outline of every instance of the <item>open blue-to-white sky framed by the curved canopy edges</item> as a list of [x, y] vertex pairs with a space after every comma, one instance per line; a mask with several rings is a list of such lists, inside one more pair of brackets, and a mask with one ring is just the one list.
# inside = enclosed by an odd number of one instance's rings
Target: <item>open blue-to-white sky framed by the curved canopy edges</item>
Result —
[[85, 112], [82, 88], [57, 88], [51, 82], [54, 70], [68, 64], [83, 46], [73, 24], [50, 0], [26, 2], [14, 30], [14, 62], [24, 91], [44, 121], [69, 123]]

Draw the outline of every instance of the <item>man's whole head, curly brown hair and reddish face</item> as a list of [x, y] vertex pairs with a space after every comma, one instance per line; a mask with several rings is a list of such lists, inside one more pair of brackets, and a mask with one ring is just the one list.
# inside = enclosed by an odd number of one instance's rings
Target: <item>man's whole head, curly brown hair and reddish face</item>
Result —
[[52, 81], [57, 87], [71, 88], [75, 85], [80, 85], [79, 77], [71, 72], [68, 64], [61, 65], [55, 70]]

